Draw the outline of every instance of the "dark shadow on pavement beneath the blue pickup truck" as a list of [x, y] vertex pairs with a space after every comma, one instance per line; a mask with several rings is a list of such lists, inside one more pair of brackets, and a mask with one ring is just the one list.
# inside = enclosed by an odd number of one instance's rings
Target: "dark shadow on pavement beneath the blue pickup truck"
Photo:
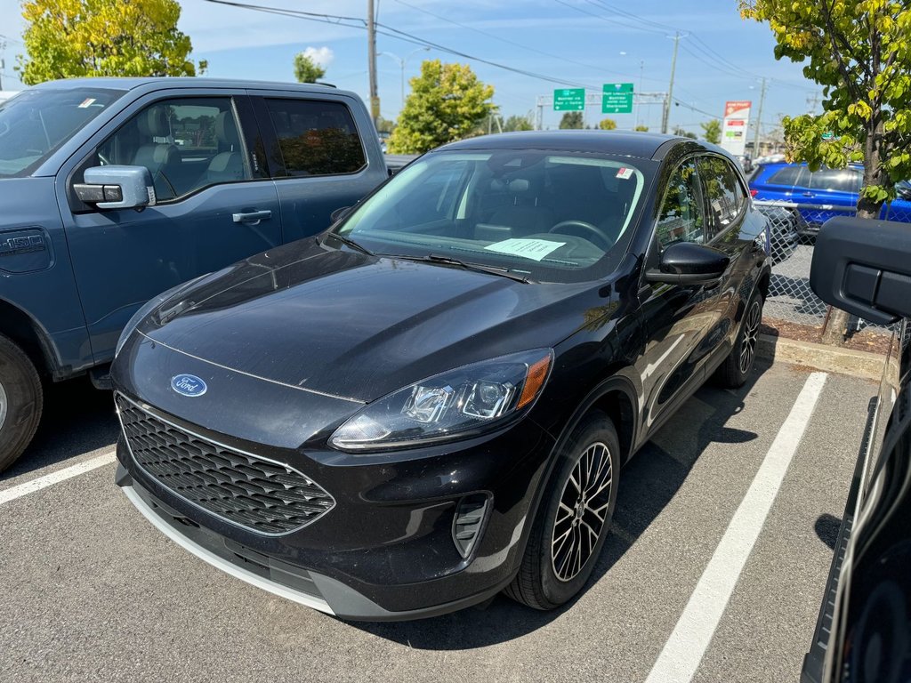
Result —
[[113, 446], [117, 436], [111, 392], [98, 391], [87, 377], [47, 385], [35, 439], [15, 464], [0, 474], [0, 482]]

